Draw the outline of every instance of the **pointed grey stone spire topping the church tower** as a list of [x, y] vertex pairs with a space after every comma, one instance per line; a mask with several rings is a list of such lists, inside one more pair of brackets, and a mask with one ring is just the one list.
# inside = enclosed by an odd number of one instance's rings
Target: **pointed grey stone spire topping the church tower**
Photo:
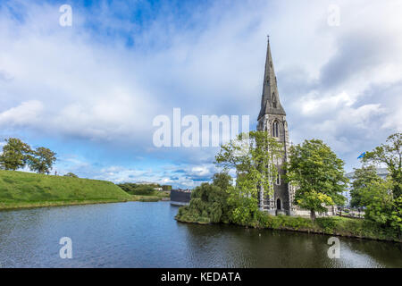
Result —
[[272, 54], [271, 54], [271, 45], [269, 36], [266, 48], [263, 97], [261, 100], [261, 111], [260, 114], [258, 115], [258, 119], [263, 117], [264, 114], [286, 115], [279, 98], [276, 75], [272, 63]]

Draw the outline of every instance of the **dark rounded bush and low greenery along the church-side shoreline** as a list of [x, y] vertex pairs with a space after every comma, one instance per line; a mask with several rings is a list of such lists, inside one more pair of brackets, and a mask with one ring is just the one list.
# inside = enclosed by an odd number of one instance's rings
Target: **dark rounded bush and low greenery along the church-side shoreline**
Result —
[[[235, 202], [230, 202], [227, 191], [222, 190], [225, 174], [215, 174], [213, 184], [204, 183], [193, 190], [188, 206], [181, 206], [175, 219], [180, 223], [232, 224], [243, 227], [279, 231], [298, 231], [341, 237], [402, 242], [398, 230], [384, 227], [367, 219], [340, 216], [317, 217], [314, 221], [302, 216], [273, 216], [260, 210], [237, 220]], [[218, 179], [216, 179], [218, 178]], [[221, 180], [221, 181], [220, 181]], [[221, 185], [221, 187], [217, 186]], [[224, 187], [224, 186], [223, 186]], [[230, 188], [230, 187], [229, 187]]]

